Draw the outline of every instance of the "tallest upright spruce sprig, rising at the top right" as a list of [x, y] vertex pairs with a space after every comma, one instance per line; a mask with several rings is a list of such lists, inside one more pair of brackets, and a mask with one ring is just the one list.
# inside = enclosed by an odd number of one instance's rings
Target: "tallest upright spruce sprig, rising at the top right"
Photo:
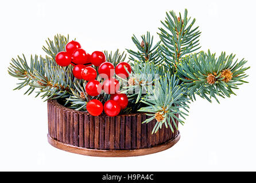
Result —
[[196, 19], [189, 22], [188, 11], [185, 9], [184, 16], [179, 17], [174, 11], [166, 12], [165, 21], [162, 22], [163, 28], [159, 28], [161, 39], [160, 56], [167, 65], [176, 65], [185, 54], [192, 53], [200, 49], [198, 27], [192, 28]]

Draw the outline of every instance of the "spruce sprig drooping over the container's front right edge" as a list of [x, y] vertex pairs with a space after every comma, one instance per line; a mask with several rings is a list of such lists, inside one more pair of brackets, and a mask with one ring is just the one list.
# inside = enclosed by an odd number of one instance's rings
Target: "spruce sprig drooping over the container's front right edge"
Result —
[[152, 116], [143, 122], [147, 123], [152, 121], [154, 118], [157, 119], [157, 123], [154, 126], [152, 133], [157, 132], [163, 124], [165, 124], [166, 128], [168, 128], [169, 125], [173, 132], [172, 125], [177, 128], [174, 120], [184, 124], [184, 122], [177, 117], [177, 114], [183, 118], [184, 115], [187, 115], [187, 113], [181, 110], [185, 109], [187, 111], [188, 108], [188, 105], [186, 104], [186, 102], [188, 102], [188, 98], [187, 96], [184, 96], [184, 93], [185, 91], [180, 85], [179, 79], [176, 79], [175, 75], [170, 77], [169, 74], [161, 77], [155, 82], [154, 87], [149, 88], [148, 93], [141, 101], [148, 106], [139, 109], [139, 111], [147, 112], [148, 116]]

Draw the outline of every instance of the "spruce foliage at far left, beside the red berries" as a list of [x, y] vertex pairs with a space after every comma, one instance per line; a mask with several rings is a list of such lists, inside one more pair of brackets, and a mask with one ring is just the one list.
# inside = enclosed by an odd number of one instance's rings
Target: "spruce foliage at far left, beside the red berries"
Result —
[[[63, 35], [56, 35], [55, 41], [48, 39], [48, 50], [44, 47], [46, 53], [49, 53], [53, 58], [45, 57], [38, 58], [37, 55], [34, 58], [30, 58], [30, 66], [26, 61], [25, 56], [17, 59], [11, 59], [8, 72], [11, 76], [16, 77], [23, 82], [18, 83], [18, 87], [15, 89], [21, 89], [24, 86], [29, 86], [26, 93], [31, 94], [35, 89], [37, 96], [42, 94], [41, 97], [49, 100], [49, 98], [65, 98], [71, 95], [71, 89], [74, 89], [74, 82], [77, 81], [72, 74], [72, 67], [61, 67], [55, 62], [55, 54], [57, 51], [65, 50], [65, 44], [68, 38]], [[36, 96], [36, 97], [37, 97]], [[45, 101], [46, 101], [45, 100]]]

